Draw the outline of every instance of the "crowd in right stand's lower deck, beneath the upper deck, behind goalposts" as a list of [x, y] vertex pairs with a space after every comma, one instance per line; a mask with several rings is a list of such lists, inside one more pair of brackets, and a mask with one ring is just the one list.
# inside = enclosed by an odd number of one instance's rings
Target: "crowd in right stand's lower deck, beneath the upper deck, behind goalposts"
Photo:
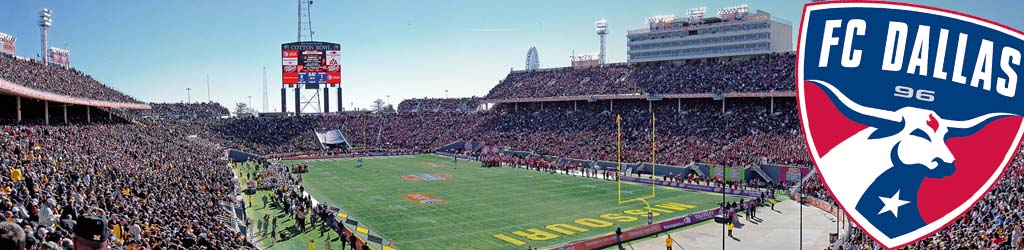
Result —
[[[649, 162], [651, 129], [655, 129], [658, 163], [810, 164], [806, 151], [799, 147], [803, 137], [796, 109], [791, 109], [795, 102], [776, 102], [773, 113], [767, 101], [739, 99], [727, 102], [724, 114], [721, 103], [713, 100], [657, 103], [651, 108], [656, 119], [653, 128], [646, 100], [616, 101], [614, 112], [601, 103], [548, 102], [543, 109], [499, 105], [496, 114], [476, 128], [473, 139], [541, 155], [613, 161], [617, 156], [615, 117], [622, 115], [623, 161]], [[778, 147], [787, 142], [794, 143]]]

